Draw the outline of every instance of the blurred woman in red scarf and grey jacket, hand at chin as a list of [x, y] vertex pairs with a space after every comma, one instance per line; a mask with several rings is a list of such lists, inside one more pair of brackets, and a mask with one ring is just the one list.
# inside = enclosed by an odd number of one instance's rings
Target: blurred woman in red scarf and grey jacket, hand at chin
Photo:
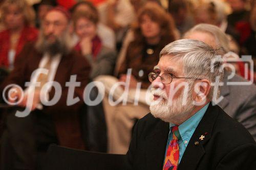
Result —
[[79, 42], [75, 46], [92, 66], [90, 78], [99, 75], [113, 75], [116, 53], [105, 47], [97, 35], [98, 15], [92, 12], [77, 12], [73, 16], [75, 32]]

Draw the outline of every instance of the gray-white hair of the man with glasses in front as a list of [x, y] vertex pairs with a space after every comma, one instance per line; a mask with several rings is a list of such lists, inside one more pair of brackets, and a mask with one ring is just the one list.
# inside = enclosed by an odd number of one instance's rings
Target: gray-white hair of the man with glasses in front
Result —
[[[166, 45], [160, 52], [160, 58], [169, 55], [172, 60], [181, 62], [187, 78], [208, 79], [214, 83], [217, 78], [220, 82], [223, 78], [223, 59], [220, 57], [223, 53], [222, 48], [215, 50], [202, 41], [181, 39]], [[214, 88], [211, 88], [209, 99], [212, 99], [213, 92]]]

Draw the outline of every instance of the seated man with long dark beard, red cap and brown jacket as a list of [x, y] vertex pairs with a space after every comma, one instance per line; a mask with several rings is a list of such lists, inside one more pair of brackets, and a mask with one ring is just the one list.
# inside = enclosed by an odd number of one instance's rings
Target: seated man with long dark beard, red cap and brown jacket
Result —
[[[10, 84], [22, 88], [12, 87], [7, 92], [10, 103], [20, 102], [6, 114], [1, 145], [3, 170], [37, 169], [37, 153], [46, 152], [51, 143], [86, 149], [78, 113], [83, 106], [83, 90], [89, 82], [90, 65], [72, 50], [70, 18], [68, 11], [61, 7], [48, 11], [42, 21], [38, 40], [24, 46], [14, 70], [3, 83], [2, 90]], [[37, 68], [49, 72], [43, 73]], [[68, 104], [70, 92], [66, 82], [71, 81], [72, 75], [80, 82], [80, 86], [73, 89], [72, 99], [79, 98], [79, 101]], [[58, 86], [53, 88], [52, 81]], [[25, 86], [25, 82], [32, 83]], [[39, 86], [35, 87], [35, 82]], [[57, 92], [60, 93], [58, 100]], [[42, 94], [46, 96], [40, 96]], [[51, 105], [49, 100], [55, 104]]]

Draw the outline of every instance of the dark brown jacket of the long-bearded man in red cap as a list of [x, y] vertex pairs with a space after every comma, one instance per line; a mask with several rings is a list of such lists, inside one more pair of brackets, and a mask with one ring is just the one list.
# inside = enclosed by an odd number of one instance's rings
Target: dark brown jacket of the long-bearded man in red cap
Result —
[[[25, 89], [25, 82], [30, 82], [32, 72], [38, 68], [42, 54], [37, 52], [32, 43], [25, 45], [15, 68], [1, 86], [3, 90], [8, 84], [17, 84]], [[78, 97], [80, 102], [67, 106], [68, 87], [66, 82], [70, 81], [71, 75], [77, 75], [76, 81], [81, 82], [80, 87], [75, 88], [74, 98]], [[54, 81], [61, 85], [62, 92], [60, 100], [53, 106], [44, 106], [42, 112], [52, 114], [56, 125], [56, 132], [60, 145], [70, 148], [83, 149], [83, 142], [78, 122], [78, 110], [83, 104], [83, 90], [89, 81], [90, 65], [86, 59], [77, 52], [71, 51], [62, 56], [58, 65]], [[54, 88], [49, 92], [50, 100], [55, 94]]]

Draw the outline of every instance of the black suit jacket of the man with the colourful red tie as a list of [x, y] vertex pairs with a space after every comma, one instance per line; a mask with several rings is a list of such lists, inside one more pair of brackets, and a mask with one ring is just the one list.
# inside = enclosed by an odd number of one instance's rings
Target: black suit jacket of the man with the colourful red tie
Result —
[[[147, 114], [134, 128], [130, 169], [162, 169], [169, 124]], [[200, 140], [200, 136], [205, 138]], [[196, 144], [195, 142], [199, 142]], [[219, 106], [209, 105], [180, 161], [182, 169], [254, 169], [256, 144], [249, 132]]]

